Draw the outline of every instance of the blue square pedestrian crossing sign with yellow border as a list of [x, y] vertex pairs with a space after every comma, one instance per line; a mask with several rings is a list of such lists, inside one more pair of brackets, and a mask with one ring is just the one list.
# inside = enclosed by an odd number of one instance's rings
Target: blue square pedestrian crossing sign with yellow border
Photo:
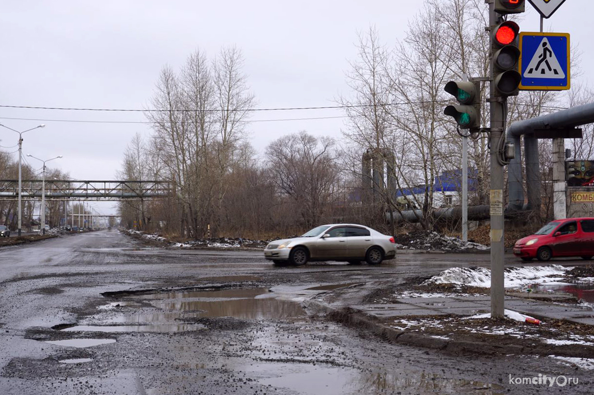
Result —
[[520, 33], [520, 90], [570, 89], [569, 33]]

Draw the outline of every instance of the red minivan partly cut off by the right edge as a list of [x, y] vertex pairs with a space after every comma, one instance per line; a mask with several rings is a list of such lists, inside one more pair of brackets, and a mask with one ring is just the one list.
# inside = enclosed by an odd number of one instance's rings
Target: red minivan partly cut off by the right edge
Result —
[[594, 218], [567, 218], [551, 221], [514, 245], [514, 255], [523, 261], [538, 258], [594, 256]]

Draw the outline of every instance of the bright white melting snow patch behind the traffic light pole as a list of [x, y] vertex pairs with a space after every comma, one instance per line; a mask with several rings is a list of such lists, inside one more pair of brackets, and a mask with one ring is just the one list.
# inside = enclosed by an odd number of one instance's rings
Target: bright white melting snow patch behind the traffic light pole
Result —
[[[508, 267], [505, 268], [505, 287], [515, 288], [532, 283], [556, 283], [564, 280], [566, 271], [571, 267], [560, 265]], [[437, 276], [426, 280], [422, 285], [461, 284], [467, 286], [491, 286], [491, 270], [485, 267], [453, 267], [442, 271]]]

